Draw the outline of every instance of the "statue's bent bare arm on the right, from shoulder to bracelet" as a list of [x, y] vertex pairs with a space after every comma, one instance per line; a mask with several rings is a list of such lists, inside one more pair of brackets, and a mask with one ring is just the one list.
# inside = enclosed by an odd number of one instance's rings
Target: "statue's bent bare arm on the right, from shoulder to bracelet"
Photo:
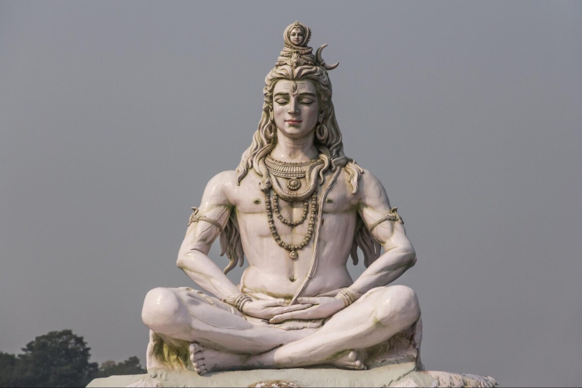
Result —
[[364, 171], [358, 192], [360, 217], [385, 251], [349, 287], [363, 294], [374, 287], [392, 283], [416, 263], [416, 253], [406, 236], [402, 219], [396, 209], [390, 207], [380, 181]]

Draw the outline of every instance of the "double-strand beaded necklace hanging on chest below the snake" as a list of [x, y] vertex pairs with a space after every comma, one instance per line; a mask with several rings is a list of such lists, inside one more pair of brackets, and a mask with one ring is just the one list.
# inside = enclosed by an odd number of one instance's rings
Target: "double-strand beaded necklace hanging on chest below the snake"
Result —
[[[289, 257], [292, 259], [295, 259], [295, 258], [297, 258], [297, 251], [309, 243], [309, 241], [311, 240], [311, 234], [313, 234], [313, 228], [315, 226], [315, 217], [317, 216], [317, 187], [313, 191], [313, 194], [311, 194], [311, 215], [309, 216], [309, 226], [307, 227], [307, 233], [306, 233], [303, 241], [301, 241], [301, 243], [296, 244], [296, 245], [287, 244], [283, 240], [281, 240], [281, 236], [279, 236], [279, 233], [277, 232], [277, 229], [275, 227], [275, 223], [273, 220], [273, 213], [271, 211], [271, 198], [270, 198], [271, 197], [271, 195], [270, 195], [271, 190], [266, 189], [266, 190], [264, 190], [264, 193], [265, 193], [265, 208], [267, 209], [267, 220], [269, 222], [269, 229], [271, 229], [271, 234], [273, 235], [273, 238], [275, 239], [275, 242], [279, 245], [279, 247], [285, 248], [285, 250], [288, 250]], [[281, 213], [279, 213], [279, 201], [278, 201], [277, 194], [275, 194], [275, 193], [273, 194], [273, 199], [274, 199], [273, 208], [275, 209], [275, 213], [276, 213], [277, 217], [281, 220], [281, 222], [293, 227], [293, 226], [299, 225], [300, 223], [303, 223], [303, 221], [306, 219], [306, 217], [307, 217], [307, 201], [303, 202], [303, 215], [301, 216], [301, 219], [299, 221], [292, 222], [292, 221], [289, 221], [288, 219], [283, 218]]]

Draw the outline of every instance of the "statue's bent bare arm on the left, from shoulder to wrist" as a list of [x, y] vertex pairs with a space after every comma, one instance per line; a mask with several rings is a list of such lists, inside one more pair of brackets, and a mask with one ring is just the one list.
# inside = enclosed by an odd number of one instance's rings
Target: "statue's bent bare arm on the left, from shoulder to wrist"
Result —
[[[215, 220], [224, 227], [233, 208], [228, 188], [233, 187], [235, 179], [234, 171], [225, 171], [212, 178], [204, 190], [198, 215]], [[176, 265], [202, 289], [222, 299], [231, 294], [238, 295], [240, 290], [207, 256], [220, 232], [217, 225], [205, 220], [190, 223]]]

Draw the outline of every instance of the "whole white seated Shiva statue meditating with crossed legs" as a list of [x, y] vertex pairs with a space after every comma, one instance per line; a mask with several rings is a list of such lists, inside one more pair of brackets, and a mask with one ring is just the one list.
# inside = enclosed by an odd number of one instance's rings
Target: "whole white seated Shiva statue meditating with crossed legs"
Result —
[[[325, 45], [313, 54], [310, 35], [287, 27], [252, 144], [193, 208], [177, 265], [212, 296], [180, 287], [145, 297], [148, 370], [361, 370], [402, 343], [418, 357], [417, 297], [388, 285], [414, 265], [414, 249], [382, 184], [343, 152], [328, 77], [338, 63], [321, 58]], [[224, 271], [208, 257], [217, 237]], [[347, 262], [358, 249], [367, 269], [354, 281]], [[225, 274], [245, 256], [236, 286]]]

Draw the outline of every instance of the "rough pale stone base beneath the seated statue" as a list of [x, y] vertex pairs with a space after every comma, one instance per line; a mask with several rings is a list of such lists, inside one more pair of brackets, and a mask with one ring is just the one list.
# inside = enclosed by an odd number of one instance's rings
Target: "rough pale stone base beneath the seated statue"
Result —
[[111, 376], [87, 387], [495, 387], [489, 376], [417, 371], [415, 362], [368, 371], [336, 368], [257, 369], [198, 376], [191, 371]]

